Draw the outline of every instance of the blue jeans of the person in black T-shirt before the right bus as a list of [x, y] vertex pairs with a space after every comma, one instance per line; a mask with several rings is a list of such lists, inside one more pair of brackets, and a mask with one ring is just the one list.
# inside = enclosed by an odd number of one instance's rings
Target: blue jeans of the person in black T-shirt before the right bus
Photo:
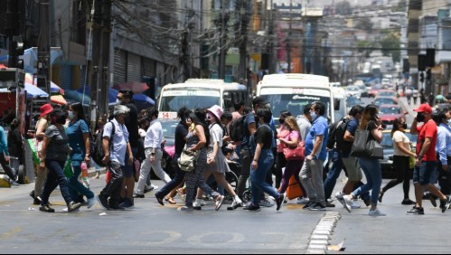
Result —
[[272, 169], [274, 164], [274, 156], [271, 149], [262, 149], [258, 158], [257, 169], [250, 169], [250, 180], [252, 184], [252, 203], [258, 205], [260, 201], [260, 193], [266, 193], [274, 198], [278, 198], [280, 194], [276, 189], [266, 182], [268, 171]]

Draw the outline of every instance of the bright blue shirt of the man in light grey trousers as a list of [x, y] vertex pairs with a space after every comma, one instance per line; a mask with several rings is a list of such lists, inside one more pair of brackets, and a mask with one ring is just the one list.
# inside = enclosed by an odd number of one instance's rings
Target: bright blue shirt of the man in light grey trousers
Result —
[[329, 137], [329, 124], [327, 119], [323, 116], [316, 118], [312, 124], [312, 128], [308, 131], [307, 137], [305, 137], [305, 156], [312, 154], [314, 149], [316, 137], [323, 136], [323, 144], [321, 150], [315, 155], [315, 159], [325, 160], [327, 152], [325, 146], [327, 146], [327, 139]]

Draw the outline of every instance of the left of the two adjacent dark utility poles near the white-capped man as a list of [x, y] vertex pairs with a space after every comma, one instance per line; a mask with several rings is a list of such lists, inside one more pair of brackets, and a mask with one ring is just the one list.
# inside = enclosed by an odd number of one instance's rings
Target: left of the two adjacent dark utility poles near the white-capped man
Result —
[[102, 38], [102, 1], [93, 0], [94, 2], [94, 17], [92, 25], [92, 56], [90, 67], [90, 124], [91, 127], [96, 127], [97, 110], [99, 102], [99, 72], [100, 71], [100, 52], [101, 52], [101, 38]]

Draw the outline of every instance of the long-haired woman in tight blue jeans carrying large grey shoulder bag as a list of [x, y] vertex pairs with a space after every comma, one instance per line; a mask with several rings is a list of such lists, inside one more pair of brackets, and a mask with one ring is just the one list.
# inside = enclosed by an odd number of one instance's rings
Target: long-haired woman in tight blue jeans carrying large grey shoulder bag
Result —
[[[359, 164], [362, 166], [363, 173], [366, 176], [367, 183], [363, 184], [361, 187], [352, 192], [352, 194], [344, 195], [344, 207], [348, 212], [351, 213], [351, 204], [354, 198], [358, 197], [365, 192], [372, 190], [371, 192], [371, 209], [370, 216], [385, 216], [385, 213], [381, 213], [377, 209], [379, 192], [381, 191], [382, 184], [382, 173], [381, 173], [381, 164], [379, 163], [379, 155], [378, 156], [370, 156], [374, 153], [374, 148], [372, 148], [365, 156], [362, 154], [355, 155], [353, 154], [355, 149], [354, 146], [362, 144], [362, 140], [364, 144], [369, 145], [371, 142], [375, 142], [376, 144], [381, 144], [382, 141], [382, 120], [377, 115], [379, 113], [379, 109], [375, 105], [368, 105], [363, 111], [362, 121], [359, 129], [355, 135], [355, 141], [352, 145], [351, 155], [357, 156], [359, 158]], [[366, 132], [365, 132], [366, 131]], [[358, 133], [361, 133], [359, 136]], [[362, 136], [365, 134], [365, 136]], [[368, 134], [368, 137], [366, 137]], [[362, 139], [358, 141], [358, 139]], [[376, 145], [377, 146], [377, 145]], [[380, 148], [381, 146], [377, 146]], [[382, 153], [383, 154], [383, 153]]]

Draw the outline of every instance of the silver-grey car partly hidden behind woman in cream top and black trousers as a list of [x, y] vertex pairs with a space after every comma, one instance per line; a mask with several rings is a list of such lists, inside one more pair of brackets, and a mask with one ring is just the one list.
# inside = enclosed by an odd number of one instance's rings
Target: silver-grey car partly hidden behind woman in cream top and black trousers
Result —
[[[415, 149], [417, 146], [417, 135], [411, 135], [409, 131], [407, 131], [406, 136], [409, 137], [410, 142], [412, 143], [412, 149]], [[380, 160], [381, 170], [382, 170], [382, 178], [386, 179], [394, 179], [396, 178], [396, 170], [393, 168], [393, 140], [391, 140], [391, 130], [382, 131], [382, 142], [384, 158]]]

